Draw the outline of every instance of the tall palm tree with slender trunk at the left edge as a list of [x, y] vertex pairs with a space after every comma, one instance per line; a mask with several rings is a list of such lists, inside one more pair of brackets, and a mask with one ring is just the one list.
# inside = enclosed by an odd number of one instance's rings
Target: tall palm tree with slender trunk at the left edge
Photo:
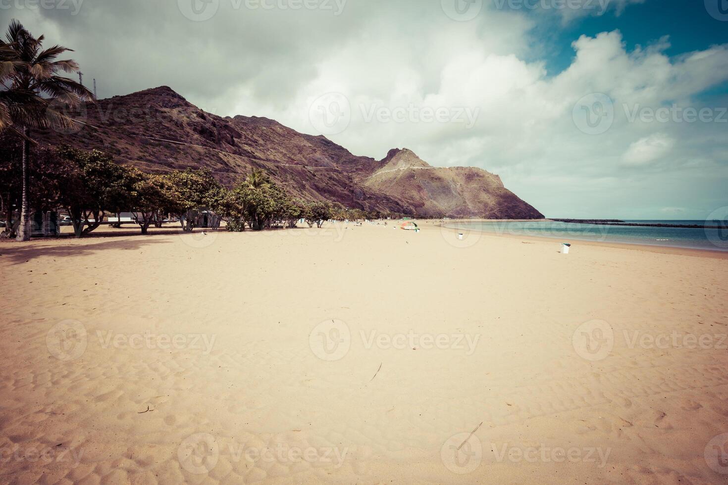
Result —
[[[20, 207], [18, 241], [31, 239], [31, 215], [28, 207], [28, 151], [31, 128], [71, 127], [74, 120], [55, 106], [76, 108], [92, 93], [73, 79], [58, 76], [59, 71], [74, 73], [79, 65], [74, 60], [56, 60], [71, 51], [55, 45], [41, 50], [44, 36], [37, 39], [13, 20], [0, 40], [0, 130], [10, 127], [23, 137], [23, 201]], [[72, 51], [71, 51], [72, 52]]]

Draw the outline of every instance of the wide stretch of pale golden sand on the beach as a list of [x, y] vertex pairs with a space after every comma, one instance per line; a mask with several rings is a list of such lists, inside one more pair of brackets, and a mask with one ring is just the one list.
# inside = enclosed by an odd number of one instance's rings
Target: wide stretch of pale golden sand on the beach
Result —
[[4, 241], [0, 482], [728, 480], [728, 254], [422, 226]]

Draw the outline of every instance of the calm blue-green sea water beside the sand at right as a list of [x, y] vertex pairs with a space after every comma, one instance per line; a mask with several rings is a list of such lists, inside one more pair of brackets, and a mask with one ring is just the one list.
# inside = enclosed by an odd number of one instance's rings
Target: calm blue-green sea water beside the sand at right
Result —
[[[627, 223], [718, 225], [705, 220], [628, 220]], [[670, 246], [692, 249], [728, 251], [728, 229], [644, 228], [628, 225], [593, 225], [530, 222], [464, 222], [446, 223], [449, 228], [483, 231], [518, 236], [539, 236], [571, 241], [601, 241], [649, 246]]]

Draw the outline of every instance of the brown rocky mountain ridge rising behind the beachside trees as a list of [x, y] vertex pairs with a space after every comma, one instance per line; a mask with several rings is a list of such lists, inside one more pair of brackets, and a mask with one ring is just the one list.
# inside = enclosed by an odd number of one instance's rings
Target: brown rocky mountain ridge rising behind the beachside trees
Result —
[[41, 141], [106, 151], [148, 172], [205, 167], [225, 185], [257, 167], [293, 196], [345, 207], [425, 217], [543, 217], [484, 170], [430, 167], [408, 150], [380, 161], [355, 156], [272, 119], [206, 113], [169, 87], [99, 100], [71, 115], [82, 121], [77, 129], [45, 131]]

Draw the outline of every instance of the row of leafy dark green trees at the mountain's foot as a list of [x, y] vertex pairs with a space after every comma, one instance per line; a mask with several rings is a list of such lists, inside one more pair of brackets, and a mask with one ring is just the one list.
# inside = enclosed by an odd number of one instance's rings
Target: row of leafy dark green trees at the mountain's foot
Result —
[[[4, 232], [9, 237], [17, 231], [20, 218], [23, 140], [7, 132], [0, 138], [0, 210], [10, 222]], [[87, 236], [105, 223], [106, 215], [119, 212], [132, 212], [142, 233], [152, 223], [161, 225], [167, 215], [179, 220], [183, 231], [193, 231], [203, 218], [215, 228], [225, 220], [229, 231], [261, 231], [295, 228], [299, 220], [320, 228], [332, 218], [375, 215], [325, 201], [294, 199], [261, 169], [225, 188], [207, 169], [151, 174], [116, 164], [101, 151], [68, 147], [33, 145], [31, 155], [31, 208], [66, 210], [77, 237]]]

